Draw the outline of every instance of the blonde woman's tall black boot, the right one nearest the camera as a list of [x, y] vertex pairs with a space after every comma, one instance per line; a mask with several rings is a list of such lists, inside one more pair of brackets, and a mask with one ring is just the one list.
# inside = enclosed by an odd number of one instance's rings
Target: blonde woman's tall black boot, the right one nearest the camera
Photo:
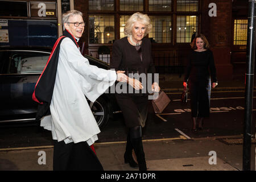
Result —
[[143, 150], [142, 138], [131, 139], [135, 154], [137, 156], [137, 161], [139, 163], [139, 171], [147, 171], [147, 165], [145, 160], [145, 154]]

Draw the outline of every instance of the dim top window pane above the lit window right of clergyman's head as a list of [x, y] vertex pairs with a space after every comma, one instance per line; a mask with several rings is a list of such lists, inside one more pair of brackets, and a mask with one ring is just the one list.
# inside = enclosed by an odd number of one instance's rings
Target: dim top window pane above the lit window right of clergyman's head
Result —
[[89, 10], [114, 10], [114, 0], [89, 0]]

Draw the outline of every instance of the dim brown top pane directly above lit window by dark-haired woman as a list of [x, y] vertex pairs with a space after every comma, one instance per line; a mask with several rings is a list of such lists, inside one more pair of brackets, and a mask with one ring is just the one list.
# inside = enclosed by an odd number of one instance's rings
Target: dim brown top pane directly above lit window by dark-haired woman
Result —
[[198, 11], [198, 0], [177, 0], [177, 11]]

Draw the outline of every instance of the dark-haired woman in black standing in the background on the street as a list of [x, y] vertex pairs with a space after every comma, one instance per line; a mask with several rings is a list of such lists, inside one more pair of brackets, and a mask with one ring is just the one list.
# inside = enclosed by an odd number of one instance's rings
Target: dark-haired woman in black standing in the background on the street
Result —
[[189, 80], [192, 131], [197, 131], [197, 129], [203, 130], [203, 120], [205, 117], [209, 117], [210, 114], [207, 91], [209, 77], [212, 79], [212, 88], [217, 86], [217, 78], [213, 53], [209, 50], [208, 40], [203, 34], [195, 37], [191, 48], [193, 50], [188, 56], [187, 71], [183, 85], [187, 86], [187, 81]]

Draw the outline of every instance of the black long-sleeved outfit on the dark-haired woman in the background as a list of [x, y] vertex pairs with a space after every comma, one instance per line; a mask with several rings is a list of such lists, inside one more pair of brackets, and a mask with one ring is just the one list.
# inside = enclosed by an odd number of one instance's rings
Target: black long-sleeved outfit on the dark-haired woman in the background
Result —
[[192, 117], [209, 117], [207, 85], [209, 77], [217, 82], [213, 53], [210, 50], [191, 51], [184, 82], [189, 81]]

